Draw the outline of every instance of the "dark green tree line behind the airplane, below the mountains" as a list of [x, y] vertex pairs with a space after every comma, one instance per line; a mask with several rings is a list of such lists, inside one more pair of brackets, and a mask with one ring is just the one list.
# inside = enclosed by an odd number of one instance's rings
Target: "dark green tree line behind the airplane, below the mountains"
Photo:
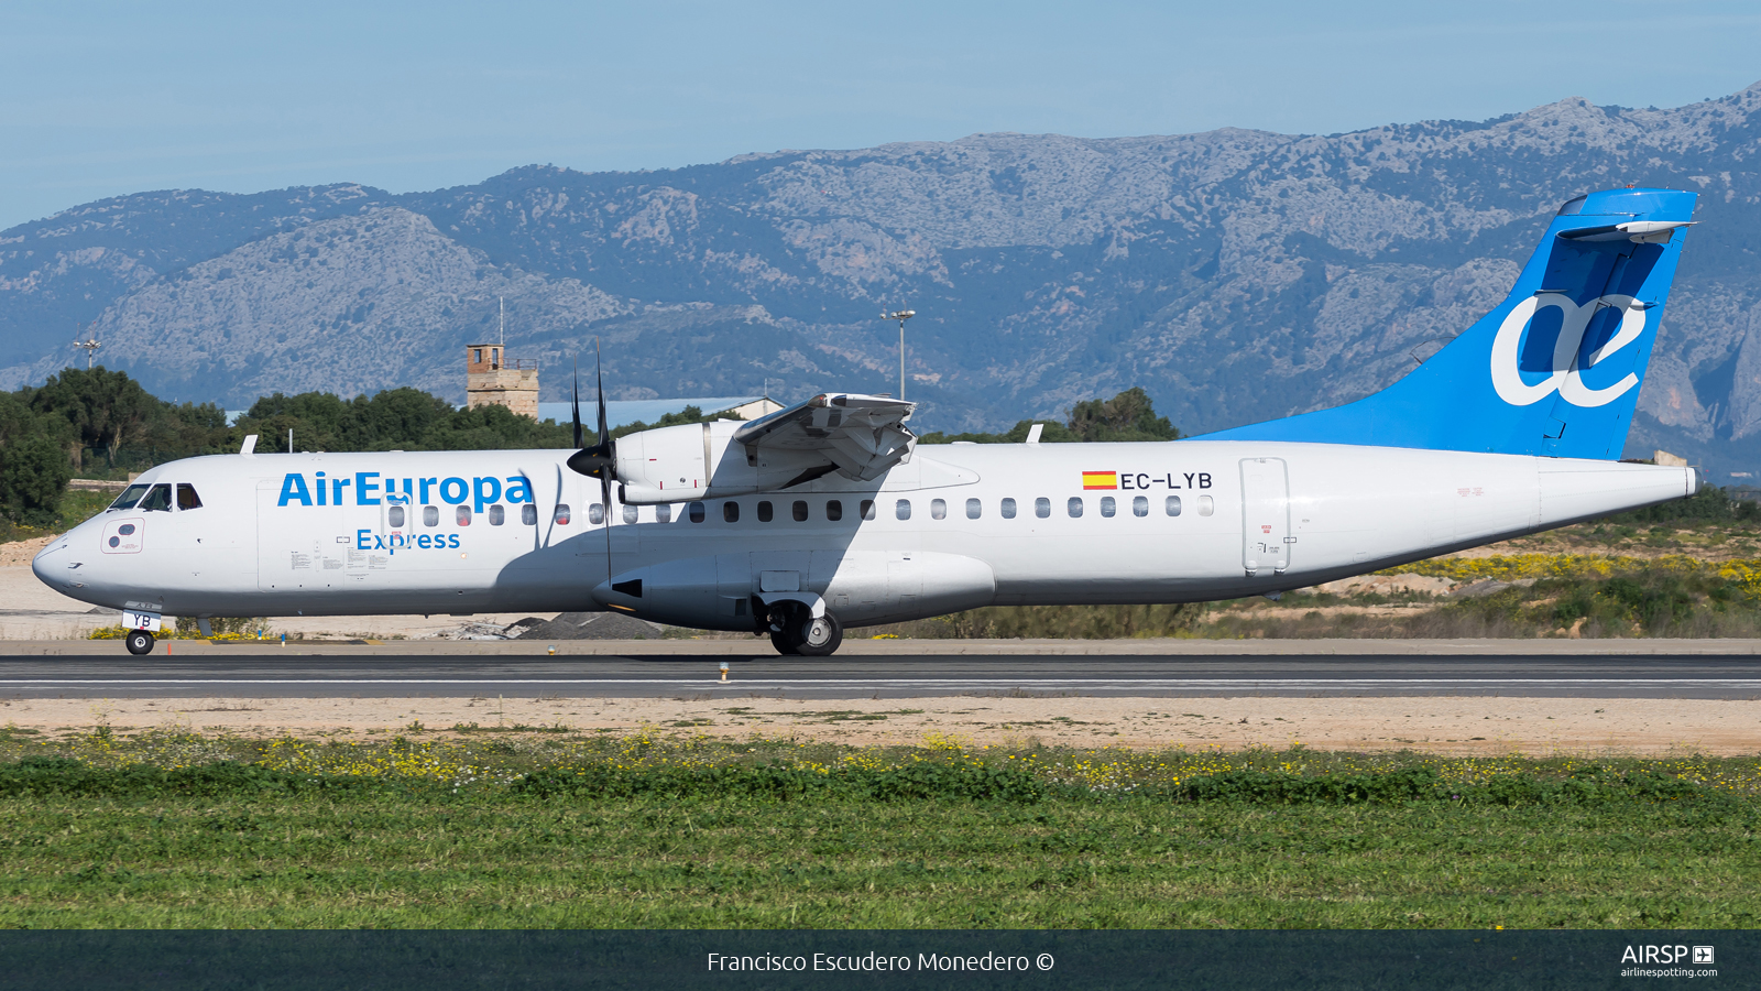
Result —
[[[627, 423], [611, 434], [701, 423], [717, 414], [696, 406], [653, 423]], [[586, 443], [597, 434], [595, 404], [581, 404]], [[926, 434], [925, 443], [1021, 443], [1032, 420], [1002, 434]], [[292, 446], [289, 446], [292, 432]], [[248, 434], [259, 451], [486, 451], [569, 448], [572, 423], [537, 421], [504, 406], [456, 409], [417, 388], [384, 390], [342, 399], [328, 391], [273, 393], [227, 425], [211, 402], [173, 404], [127, 372], [63, 369], [41, 386], [0, 393], [0, 515], [28, 527], [56, 525], [69, 480], [125, 478], [167, 460], [231, 453]], [[1157, 416], [1141, 388], [1071, 407], [1065, 421], [1044, 427], [1046, 443], [1173, 441], [1180, 437]]]

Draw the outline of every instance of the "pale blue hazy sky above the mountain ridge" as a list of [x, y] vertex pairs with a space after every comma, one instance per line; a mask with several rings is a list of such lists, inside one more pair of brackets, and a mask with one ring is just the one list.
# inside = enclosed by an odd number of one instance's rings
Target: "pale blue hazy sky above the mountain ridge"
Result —
[[1761, 79], [1752, 2], [1442, 7], [7, 0], [0, 227], [146, 189], [403, 192], [981, 130], [1328, 134]]

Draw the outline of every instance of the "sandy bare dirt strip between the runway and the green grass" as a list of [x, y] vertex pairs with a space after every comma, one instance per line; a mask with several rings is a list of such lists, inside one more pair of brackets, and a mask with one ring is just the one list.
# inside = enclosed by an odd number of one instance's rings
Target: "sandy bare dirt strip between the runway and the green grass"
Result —
[[706, 734], [852, 746], [1414, 749], [1439, 755], [1752, 755], [1761, 702], [1655, 698], [12, 698], [41, 732], [178, 726], [247, 735]]

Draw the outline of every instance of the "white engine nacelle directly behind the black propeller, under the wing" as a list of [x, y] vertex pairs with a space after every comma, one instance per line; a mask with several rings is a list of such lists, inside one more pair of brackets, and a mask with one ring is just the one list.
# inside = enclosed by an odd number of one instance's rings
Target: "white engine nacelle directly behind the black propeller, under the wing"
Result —
[[623, 501], [652, 506], [770, 492], [831, 471], [819, 451], [748, 451], [733, 443], [741, 427], [741, 421], [687, 423], [618, 437]]

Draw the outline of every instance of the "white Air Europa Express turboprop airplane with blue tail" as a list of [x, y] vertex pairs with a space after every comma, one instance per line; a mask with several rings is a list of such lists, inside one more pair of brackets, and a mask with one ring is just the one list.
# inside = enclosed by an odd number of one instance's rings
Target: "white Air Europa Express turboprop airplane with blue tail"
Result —
[[824, 393], [576, 451], [167, 462], [35, 575], [166, 615], [615, 610], [828, 656], [847, 628], [988, 605], [1185, 603], [1315, 585], [1692, 496], [1620, 451], [1696, 196], [1566, 203], [1509, 296], [1386, 390], [1215, 434], [919, 444], [914, 404]]

